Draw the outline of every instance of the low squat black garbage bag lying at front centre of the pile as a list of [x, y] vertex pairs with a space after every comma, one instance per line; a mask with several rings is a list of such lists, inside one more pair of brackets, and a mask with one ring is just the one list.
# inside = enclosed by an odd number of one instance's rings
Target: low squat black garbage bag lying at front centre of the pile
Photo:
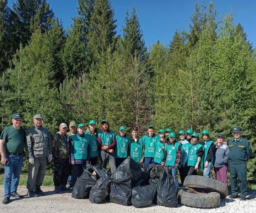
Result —
[[156, 186], [137, 186], [132, 190], [132, 205], [136, 208], [153, 203], [156, 196]]

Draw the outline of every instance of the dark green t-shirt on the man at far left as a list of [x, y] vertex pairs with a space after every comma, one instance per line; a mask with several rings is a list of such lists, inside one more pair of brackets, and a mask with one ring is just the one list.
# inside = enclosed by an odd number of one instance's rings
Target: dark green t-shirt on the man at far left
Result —
[[26, 132], [22, 127], [16, 130], [13, 126], [8, 126], [2, 131], [0, 139], [5, 140], [5, 152], [22, 153], [26, 140]]

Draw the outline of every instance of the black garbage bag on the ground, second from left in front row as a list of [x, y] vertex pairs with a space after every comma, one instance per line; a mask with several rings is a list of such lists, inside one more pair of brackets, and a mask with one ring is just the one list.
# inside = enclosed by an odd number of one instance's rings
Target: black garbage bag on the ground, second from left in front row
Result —
[[104, 168], [96, 170], [101, 178], [97, 180], [96, 184], [91, 187], [89, 201], [91, 203], [101, 203], [109, 198], [110, 194], [110, 174]]

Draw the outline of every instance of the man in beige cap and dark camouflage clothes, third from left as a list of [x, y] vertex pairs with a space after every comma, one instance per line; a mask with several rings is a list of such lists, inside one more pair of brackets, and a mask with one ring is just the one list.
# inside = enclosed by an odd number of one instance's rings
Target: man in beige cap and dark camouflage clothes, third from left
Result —
[[69, 135], [68, 126], [59, 125], [59, 131], [53, 136], [52, 153], [54, 158], [53, 182], [56, 193], [63, 193], [66, 189], [66, 180], [69, 176]]

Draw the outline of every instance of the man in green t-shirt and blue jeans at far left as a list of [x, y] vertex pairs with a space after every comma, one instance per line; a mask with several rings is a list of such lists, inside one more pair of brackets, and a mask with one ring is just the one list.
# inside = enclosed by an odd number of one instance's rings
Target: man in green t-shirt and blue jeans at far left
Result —
[[22, 125], [22, 114], [12, 115], [12, 126], [6, 127], [0, 136], [1, 164], [4, 165], [4, 200], [10, 202], [10, 197], [23, 197], [17, 193], [18, 182], [23, 163], [25, 130]]

